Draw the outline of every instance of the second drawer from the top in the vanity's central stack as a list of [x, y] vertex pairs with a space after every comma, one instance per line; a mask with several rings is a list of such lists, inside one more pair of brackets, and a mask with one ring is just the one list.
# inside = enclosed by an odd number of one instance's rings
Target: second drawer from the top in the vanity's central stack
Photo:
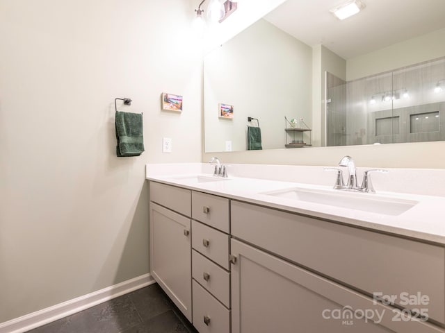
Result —
[[218, 265], [229, 269], [229, 235], [192, 221], [192, 247]]

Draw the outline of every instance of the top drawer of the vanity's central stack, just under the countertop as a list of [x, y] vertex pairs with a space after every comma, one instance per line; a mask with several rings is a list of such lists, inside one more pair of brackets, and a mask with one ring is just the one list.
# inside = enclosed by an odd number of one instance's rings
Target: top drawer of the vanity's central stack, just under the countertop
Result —
[[192, 217], [229, 233], [229, 199], [193, 191]]

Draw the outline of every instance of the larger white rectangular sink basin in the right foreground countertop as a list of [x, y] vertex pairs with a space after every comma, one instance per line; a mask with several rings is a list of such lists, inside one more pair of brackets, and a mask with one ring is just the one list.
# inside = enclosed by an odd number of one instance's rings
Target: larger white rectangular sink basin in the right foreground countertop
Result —
[[324, 191], [318, 189], [293, 188], [264, 194], [385, 215], [400, 215], [418, 203], [414, 200], [387, 198], [376, 196], [375, 194], [337, 190]]

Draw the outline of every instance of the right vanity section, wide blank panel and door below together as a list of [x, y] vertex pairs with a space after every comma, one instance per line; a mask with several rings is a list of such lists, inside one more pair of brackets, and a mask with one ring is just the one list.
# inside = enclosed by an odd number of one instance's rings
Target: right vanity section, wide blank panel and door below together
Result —
[[[445, 332], [373, 299], [442, 323], [443, 247], [234, 200], [231, 212], [232, 333]], [[428, 302], [402, 304], [403, 293]]]

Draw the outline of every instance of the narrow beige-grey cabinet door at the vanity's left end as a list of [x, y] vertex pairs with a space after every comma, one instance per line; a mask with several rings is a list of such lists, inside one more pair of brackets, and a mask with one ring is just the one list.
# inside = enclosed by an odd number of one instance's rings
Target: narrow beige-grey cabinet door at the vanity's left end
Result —
[[192, 321], [191, 220], [150, 203], [150, 272]]

